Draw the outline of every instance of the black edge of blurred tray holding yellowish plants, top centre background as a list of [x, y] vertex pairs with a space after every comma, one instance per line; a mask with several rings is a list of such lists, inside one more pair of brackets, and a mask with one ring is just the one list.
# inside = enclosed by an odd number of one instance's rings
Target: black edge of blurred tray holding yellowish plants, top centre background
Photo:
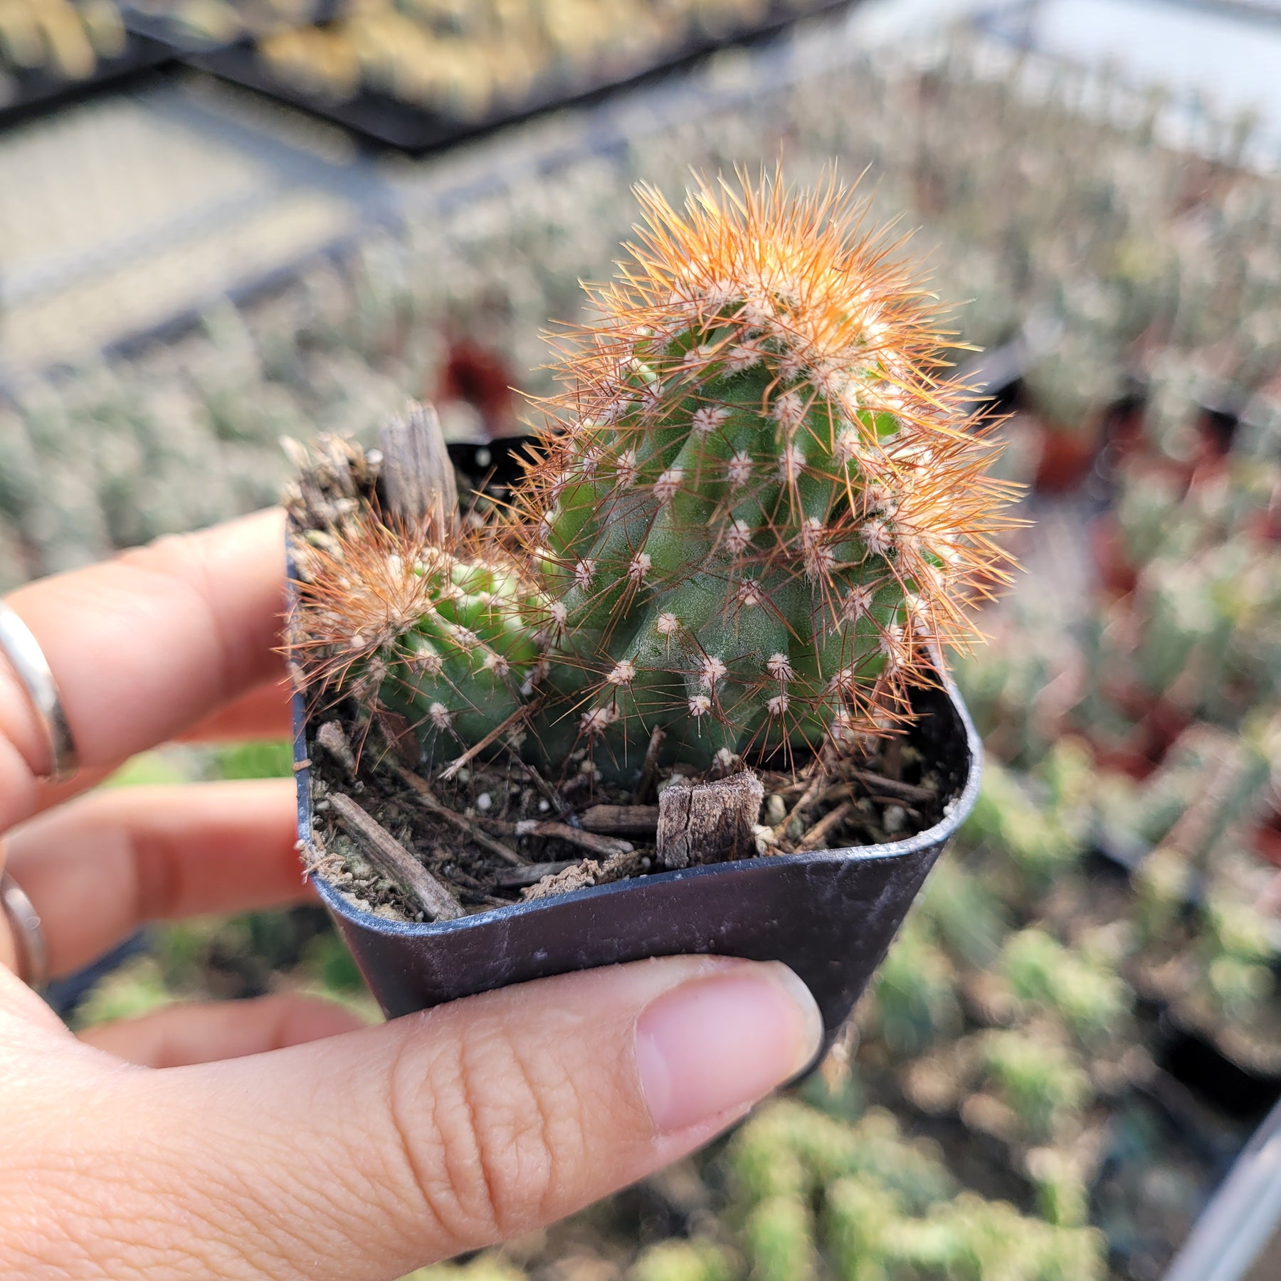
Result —
[[482, 133], [500, 124], [509, 124], [535, 111], [591, 97], [642, 79], [655, 72], [678, 67], [735, 41], [757, 38], [780, 31], [802, 17], [813, 17], [826, 10], [854, 4], [857, 0], [806, 0], [803, 5], [770, 0], [765, 18], [752, 24], [729, 28], [715, 36], [687, 37], [679, 45], [657, 53], [643, 61], [605, 64], [584, 72], [573, 79], [550, 76], [526, 97], [507, 101], [477, 119], [464, 119], [418, 108], [387, 94], [363, 90], [351, 99], [336, 99], [324, 94], [310, 94], [291, 86], [274, 76], [259, 58], [250, 42], [238, 42], [224, 49], [193, 54], [184, 60], [190, 65], [268, 94], [292, 106], [302, 108], [327, 120], [332, 120], [374, 142], [405, 151], [428, 151], [447, 146], [461, 138]]

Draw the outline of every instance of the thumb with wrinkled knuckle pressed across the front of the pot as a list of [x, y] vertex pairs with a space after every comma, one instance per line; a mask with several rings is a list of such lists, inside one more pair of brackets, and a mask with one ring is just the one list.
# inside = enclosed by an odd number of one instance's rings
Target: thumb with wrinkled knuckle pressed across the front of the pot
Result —
[[113, 1198], [140, 1189], [129, 1218], [172, 1234], [192, 1275], [396, 1277], [674, 1161], [804, 1068], [821, 1035], [783, 965], [669, 957], [128, 1073]]

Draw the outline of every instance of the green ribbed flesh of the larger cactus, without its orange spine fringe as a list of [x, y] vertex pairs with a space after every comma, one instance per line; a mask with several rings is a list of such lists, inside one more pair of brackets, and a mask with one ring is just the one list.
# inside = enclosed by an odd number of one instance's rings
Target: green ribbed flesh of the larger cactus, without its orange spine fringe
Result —
[[[874, 416], [838, 445], [836, 410], [816, 397], [803, 412], [802, 391], [778, 391], [762, 414], [778, 373], [763, 359], [734, 370], [731, 324], [697, 337], [665, 345], [665, 359], [647, 351], [652, 364], [624, 384], [637, 398], [623, 421], [579, 427], [547, 509], [546, 574], [580, 660], [557, 664], [555, 679], [584, 690], [579, 728], [623, 758], [638, 724], [661, 725], [673, 755], [696, 758], [762, 738], [812, 743], [847, 690], [912, 653], [917, 584], [892, 573], [889, 525], [867, 510], [856, 461]], [[701, 380], [683, 379], [683, 354], [702, 347], [724, 356], [699, 356]], [[678, 386], [651, 427], [642, 397], [655, 382]], [[862, 516], [875, 535], [854, 532]]]

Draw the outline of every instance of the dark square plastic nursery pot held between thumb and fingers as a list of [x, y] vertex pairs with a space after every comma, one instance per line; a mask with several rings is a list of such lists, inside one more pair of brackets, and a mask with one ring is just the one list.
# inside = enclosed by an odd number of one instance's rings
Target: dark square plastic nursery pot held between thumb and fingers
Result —
[[[320, 876], [315, 885], [389, 1018], [530, 979], [715, 953], [790, 966], [813, 993], [830, 1044], [979, 790], [980, 744], [952, 683], [916, 690], [913, 705], [911, 742], [949, 799], [942, 822], [904, 840], [655, 872], [453, 921], [387, 921]], [[293, 734], [298, 836], [314, 860], [301, 694]]]

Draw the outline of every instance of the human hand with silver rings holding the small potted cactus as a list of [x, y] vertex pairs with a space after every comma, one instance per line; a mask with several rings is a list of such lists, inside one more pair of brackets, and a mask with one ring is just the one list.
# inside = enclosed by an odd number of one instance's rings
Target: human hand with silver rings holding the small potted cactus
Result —
[[[183, 735], [286, 734], [265, 512], [13, 593], [81, 760], [0, 657], [0, 866], [54, 975], [140, 922], [306, 897], [290, 780], [76, 793]], [[378, 1027], [295, 997], [73, 1036], [0, 913], [0, 1271], [391, 1278], [570, 1213], [697, 1148], [816, 1053], [780, 965], [669, 957]]]

